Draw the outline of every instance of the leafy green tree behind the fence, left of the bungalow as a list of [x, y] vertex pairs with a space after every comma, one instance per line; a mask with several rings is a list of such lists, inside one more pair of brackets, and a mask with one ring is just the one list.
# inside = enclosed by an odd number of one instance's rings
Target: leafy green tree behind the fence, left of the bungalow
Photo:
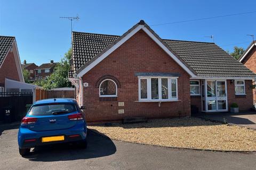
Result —
[[71, 59], [71, 48], [65, 53], [61, 61], [54, 67], [53, 73], [46, 80], [37, 80], [35, 84], [45, 89], [71, 87], [68, 80], [68, 71], [70, 70], [69, 60]]

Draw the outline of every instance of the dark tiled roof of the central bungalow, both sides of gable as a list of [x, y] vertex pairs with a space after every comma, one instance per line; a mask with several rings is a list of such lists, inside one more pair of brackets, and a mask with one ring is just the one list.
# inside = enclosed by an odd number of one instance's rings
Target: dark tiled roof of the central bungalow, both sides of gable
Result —
[[[92, 60], [119, 36], [73, 32], [74, 71]], [[256, 77], [242, 63], [214, 43], [163, 40], [197, 76], [201, 77]], [[71, 76], [71, 74], [70, 74]]]

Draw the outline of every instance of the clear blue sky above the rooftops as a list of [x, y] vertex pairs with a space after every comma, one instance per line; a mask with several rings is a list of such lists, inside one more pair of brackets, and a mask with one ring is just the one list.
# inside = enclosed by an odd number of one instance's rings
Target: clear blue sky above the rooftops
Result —
[[[60, 16], [76, 16], [73, 30], [122, 35], [143, 19], [147, 24], [183, 21], [211, 16], [256, 11], [256, 1], [13, 1], [0, 0], [0, 35], [15, 36], [21, 61], [37, 65], [60, 61], [70, 47], [70, 21]], [[256, 13], [151, 27], [161, 38], [209, 41], [233, 50], [246, 48], [256, 34]], [[244, 43], [248, 42], [248, 43]], [[243, 43], [243, 44], [239, 44]], [[229, 45], [234, 44], [234, 45]]]

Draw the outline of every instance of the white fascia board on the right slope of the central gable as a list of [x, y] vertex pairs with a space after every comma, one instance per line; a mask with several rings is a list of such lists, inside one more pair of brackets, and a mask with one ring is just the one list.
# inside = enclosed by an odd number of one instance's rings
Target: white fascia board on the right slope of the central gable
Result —
[[145, 32], [147, 33], [147, 35], [148, 35], [150, 38], [152, 38], [152, 39], [155, 41], [155, 43], [156, 43], [158, 46], [160, 46], [160, 47], [165, 51], [165, 53], [167, 53], [169, 56], [171, 56], [172, 59], [182, 67], [182, 69], [184, 69], [191, 77], [196, 77], [196, 75], [195, 75], [191, 70], [189, 70], [188, 67], [187, 67], [185, 64], [183, 64], [183, 63], [179, 60], [179, 58], [177, 58], [167, 47], [165, 47], [165, 45], [163, 45], [163, 43], [162, 43], [161, 41], [159, 41], [159, 40], [153, 35], [153, 33], [151, 33], [146, 27], [143, 27], [142, 29], [143, 29], [143, 31], [145, 31]]

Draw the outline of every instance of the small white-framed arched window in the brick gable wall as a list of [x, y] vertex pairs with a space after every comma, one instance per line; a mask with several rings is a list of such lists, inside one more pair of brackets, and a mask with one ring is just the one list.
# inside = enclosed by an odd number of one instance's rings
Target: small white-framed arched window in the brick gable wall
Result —
[[115, 81], [106, 79], [100, 83], [100, 97], [116, 97], [117, 86]]

